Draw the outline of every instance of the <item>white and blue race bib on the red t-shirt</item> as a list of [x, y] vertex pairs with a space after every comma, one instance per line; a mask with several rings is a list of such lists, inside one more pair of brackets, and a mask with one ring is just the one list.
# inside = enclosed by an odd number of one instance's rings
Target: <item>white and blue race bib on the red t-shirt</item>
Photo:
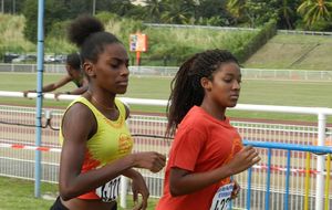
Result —
[[234, 183], [221, 186], [216, 192], [210, 210], [227, 210], [231, 200]]

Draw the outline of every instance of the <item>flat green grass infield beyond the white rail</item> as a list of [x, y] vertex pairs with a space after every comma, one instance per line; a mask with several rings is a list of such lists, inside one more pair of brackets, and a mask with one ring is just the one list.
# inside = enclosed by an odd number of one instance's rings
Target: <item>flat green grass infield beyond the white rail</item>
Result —
[[[0, 73], [0, 91], [24, 91], [35, 88], [35, 74]], [[45, 74], [43, 83], [48, 84], [59, 80], [60, 74]], [[131, 76], [129, 86], [125, 97], [167, 99], [170, 90], [170, 77]], [[69, 84], [60, 91], [74, 88]], [[241, 88], [240, 104], [281, 105], [304, 107], [332, 108], [331, 82], [301, 82], [301, 81], [267, 81], [245, 80]], [[0, 104], [18, 104], [34, 106], [33, 99], [1, 97]], [[45, 107], [64, 108], [69, 102], [44, 101]], [[164, 107], [132, 106], [133, 112], [165, 113]], [[289, 119], [317, 122], [317, 116], [273, 114], [260, 112], [229, 111], [231, 117], [251, 117], [269, 119]], [[329, 122], [332, 119], [329, 117]]]

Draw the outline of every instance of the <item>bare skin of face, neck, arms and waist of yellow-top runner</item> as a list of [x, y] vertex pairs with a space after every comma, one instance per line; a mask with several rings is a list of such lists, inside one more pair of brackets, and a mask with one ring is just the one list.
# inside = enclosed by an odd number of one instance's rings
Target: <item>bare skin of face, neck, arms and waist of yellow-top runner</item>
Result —
[[[98, 55], [95, 63], [85, 61], [83, 65], [90, 77], [90, 90], [83, 96], [111, 120], [120, 116], [114, 98], [116, 94], [126, 92], [129, 74], [127, 65], [128, 55], [120, 43], [105, 45], [104, 52]], [[126, 115], [128, 116], [128, 111]], [[133, 168], [146, 168], [157, 172], [165, 166], [165, 156], [154, 151], [131, 154], [105, 167], [81, 174], [86, 141], [96, 129], [94, 115], [81, 103], [74, 104], [64, 115], [62, 124], [64, 143], [60, 165], [62, 202], [71, 210], [110, 210], [114, 203], [75, 197], [124, 175], [133, 180], [134, 199], [137, 199], [138, 193], [142, 195], [142, 203], [136, 209], [146, 209], [149, 193], [142, 175]]]

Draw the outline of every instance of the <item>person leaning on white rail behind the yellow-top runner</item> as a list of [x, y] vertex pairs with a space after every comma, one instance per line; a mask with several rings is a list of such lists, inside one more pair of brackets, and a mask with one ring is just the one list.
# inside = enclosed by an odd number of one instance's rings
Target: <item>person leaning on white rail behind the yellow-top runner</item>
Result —
[[[77, 88], [69, 92], [56, 92], [55, 93], [56, 99], [60, 94], [81, 95], [87, 91], [89, 82], [81, 70], [81, 59], [77, 53], [72, 53], [66, 56], [65, 70], [68, 72], [68, 75], [63, 76], [55, 83], [51, 83], [43, 86], [43, 92], [55, 91], [70, 82], [73, 82]], [[28, 93], [35, 93], [35, 92], [37, 92], [35, 90], [24, 91], [23, 94], [24, 97], [27, 97]]]

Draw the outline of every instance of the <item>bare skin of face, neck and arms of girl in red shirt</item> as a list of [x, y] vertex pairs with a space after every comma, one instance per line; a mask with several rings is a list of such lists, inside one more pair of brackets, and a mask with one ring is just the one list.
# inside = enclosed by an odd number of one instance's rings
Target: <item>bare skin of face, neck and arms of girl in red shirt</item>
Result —
[[[225, 120], [226, 108], [236, 106], [239, 97], [240, 69], [236, 63], [225, 63], [214, 72], [212, 76], [212, 80], [207, 77], [200, 80], [205, 90], [205, 97], [200, 107], [215, 118]], [[169, 177], [170, 193], [174, 197], [193, 193], [221, 179], [239, 174], [259, 160], [258, 153], [251, 146], [248, 146], [236, 154], [230, 162], [210, 171], [193, 174], [181, 168], [172, 168]], [[237, 197], [239, 189], [239, 185], [235, 181], [232, 198]]]

